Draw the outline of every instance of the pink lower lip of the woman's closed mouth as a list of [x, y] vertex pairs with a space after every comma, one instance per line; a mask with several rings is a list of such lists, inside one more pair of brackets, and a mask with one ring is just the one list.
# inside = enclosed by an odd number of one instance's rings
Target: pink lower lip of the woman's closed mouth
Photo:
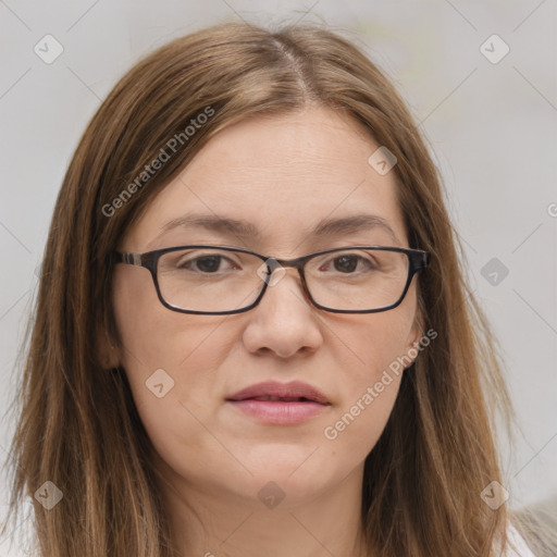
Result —
[[258, 419], [263, 423], [292, 424], [300, 423], [322, 412], [329, 405], [319, 403], [281, 403], [278, 400], [228, 400], [228, 403], [244, 413]]

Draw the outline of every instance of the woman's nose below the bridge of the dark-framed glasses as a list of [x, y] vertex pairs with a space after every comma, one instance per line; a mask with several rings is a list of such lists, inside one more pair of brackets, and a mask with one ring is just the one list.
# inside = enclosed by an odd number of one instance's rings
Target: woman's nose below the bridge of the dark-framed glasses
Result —
[[[269, 264], [269, 263], [268, 263]], [[270, 264], [273, 270], [261, 301], [249, 312], [244, 344], [251, 352], [273, 351], [288, 358], [314, 351], [323, 343], [318, 310], [308, 299], [295, 268]]]

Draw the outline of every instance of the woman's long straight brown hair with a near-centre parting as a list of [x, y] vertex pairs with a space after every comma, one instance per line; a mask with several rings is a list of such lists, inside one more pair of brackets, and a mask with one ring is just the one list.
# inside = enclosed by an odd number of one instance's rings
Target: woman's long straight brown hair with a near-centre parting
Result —
[[[152, 445], [125, 373], [104, 370], [99, 356], [101, 335], [119, 343], [111, 253], [218, 131], [308, 103], [354, 119], [396, 156], [410, 247], [432, 252], [419, 308], [437, 337], [404, 373], [366, 460], [361, 516], [370, 552], [480, 557], [492, 555], [496, 537], [505, 542], [506, 506], [492, 509], [480, 494], [491, 482], [506, 483], [494, 417], [500, 410], [508, 424], [510, 401], [416, 123], [380, 70], [338, 34], [228, 23], [137, 63], [92, 117], [64, 177], [25, 347], [11, 462], [12, 509], [32, 496], [42, 556], [175, 555]], [[205, 123], [188, 133], [193, 119]], [[144, 175], [161, 149], [168, 160]], [[46, 481], [63, 493], [50, 510], [33, 497]]]

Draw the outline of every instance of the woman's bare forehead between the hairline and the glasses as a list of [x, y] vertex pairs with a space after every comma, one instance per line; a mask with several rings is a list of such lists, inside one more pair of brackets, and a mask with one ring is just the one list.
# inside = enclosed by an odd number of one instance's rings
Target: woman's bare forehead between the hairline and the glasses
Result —
[[[379, 147], [355, 120], [323, 108], [233, 124], [213, 136], [151, 200], [128, 231], [126, 249], [171, 245], [181, 230], [195, 232], [195, 242], [203, 242], [200, 227], [189, 224], [214, 224], [222, 218], [239, 227], [224, 223], [213, 232], [225, 234], [227, 228], [231, 240], [237, 240], [235, 233], [243, 227], [251, 236], [249, 247], [287, 252], [312, 242], [310, 233], [323, 232], [327, 223], [334, 234], [333, 220], [346, 223], [357, 214], [375, 218], [377, 231], [386, 223], [394, 233], [391, 244], [398, 239], [401, 245], [406, 233], [395, 172], [381, 175], [368, 162]], [[373, 224], [373, 219], [363, 221]], [[157, 244], [159, 239], [166, 242]], [[194, 242], [193, 236], [188, 239]]]

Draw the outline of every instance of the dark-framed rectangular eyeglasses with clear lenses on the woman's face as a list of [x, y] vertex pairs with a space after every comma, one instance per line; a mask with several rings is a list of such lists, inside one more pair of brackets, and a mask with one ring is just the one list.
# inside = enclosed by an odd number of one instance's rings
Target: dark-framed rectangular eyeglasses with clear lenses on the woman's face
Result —
[[298, 270], [302, 288], [319, 309], [373, 313], [396, 308], [430, 252], [382, 246], [327, 249], [275, 259], [227, 246], [178, 246], [145, 253], [115, 252], [115, 262], [151, 273], [160, 301], [182, 313], [222, 315], [256, 307], [284, 268]]

